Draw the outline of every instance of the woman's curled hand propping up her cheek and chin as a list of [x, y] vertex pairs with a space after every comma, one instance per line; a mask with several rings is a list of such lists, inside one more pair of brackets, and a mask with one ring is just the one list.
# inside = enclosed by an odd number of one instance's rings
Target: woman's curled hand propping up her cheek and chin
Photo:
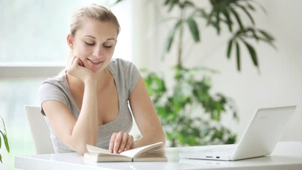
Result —
[[73, 56], [69, 62], [70, 64], [67, 68], [68, 74], [80, 79], [83, 83], [89, 79], [94, 79], [95, 73], [83, 67], [83, 63], [79, 58]]

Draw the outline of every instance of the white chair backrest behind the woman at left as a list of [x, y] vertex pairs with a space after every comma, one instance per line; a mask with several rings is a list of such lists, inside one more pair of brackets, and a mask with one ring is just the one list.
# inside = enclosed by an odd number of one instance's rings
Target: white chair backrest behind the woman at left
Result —
[[24, 105], [24, 110], [30, 126], [31, 135], [37, 154], [54, 154], [50, 139], [49, 127], [44, 116], [40, 113], [41, 107]]

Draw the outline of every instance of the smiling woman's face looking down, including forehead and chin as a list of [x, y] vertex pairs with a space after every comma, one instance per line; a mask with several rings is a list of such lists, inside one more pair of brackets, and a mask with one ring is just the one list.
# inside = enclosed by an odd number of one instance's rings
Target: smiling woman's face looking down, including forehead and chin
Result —
[[117, 26], [112, 22], [84, 19], [82, 27], [72, 37], [74, 56], [94, 73], [104, 70], [111, 61]]

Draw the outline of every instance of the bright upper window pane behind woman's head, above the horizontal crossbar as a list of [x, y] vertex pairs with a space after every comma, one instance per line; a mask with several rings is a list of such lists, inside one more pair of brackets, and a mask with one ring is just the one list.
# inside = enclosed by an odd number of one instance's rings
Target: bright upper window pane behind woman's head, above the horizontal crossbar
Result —
[[[66, 36], [72, 13], [89, 3], [104, 4], [106, 1], [1, 0], [0, 63], [51, 62], [64, 65], [69, 50]], [[132, 56], [130, 8], [127, 1], [111, 8], [121, 25], [114, 57], [128, 60]]]

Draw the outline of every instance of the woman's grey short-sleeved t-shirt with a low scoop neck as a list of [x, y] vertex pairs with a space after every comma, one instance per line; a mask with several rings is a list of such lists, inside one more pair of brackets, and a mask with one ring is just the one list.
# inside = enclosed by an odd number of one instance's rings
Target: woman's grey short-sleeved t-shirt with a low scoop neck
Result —
[[[109, 141], [114, 132], [130, 132], [132, 128], [132, 115], [128, 107], [128, 98], [130, 92], [134, 89], [140, 73], [135, 65], [123, 59], [113, 59], [108, 65], [108, 70], [113, 75], [119, 98], [119, 114], [113, 121], [99, 126], [97, 147], [108, 149]], [[80, 113], [71, 94], [66, 80], [66, 74], [60, 74], [54, 78], [47, 79], [39, 88], [39, 101], [41, 113], [45, 115], [42, 103], [46, 100], [61, 101], [71, 110], [73, 116], [77, 119]], [[59, 114], [59, 113], [58, 113]], [[54, 146], [55, 153], [75, 152], [66, 146], [54, 133], [50, 126], [47, 116], [45, 120], [50, 129], [50, 137]], [[84, 135], [84, 134], [83, 134]]]

